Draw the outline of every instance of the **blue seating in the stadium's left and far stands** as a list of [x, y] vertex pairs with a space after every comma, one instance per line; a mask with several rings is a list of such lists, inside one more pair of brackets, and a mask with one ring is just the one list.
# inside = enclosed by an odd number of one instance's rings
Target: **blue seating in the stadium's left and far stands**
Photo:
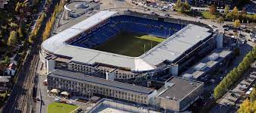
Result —
[[84, 48], [93, 48], [94, 46], [106, 42], [109, 38], [118, 35], [120, 32], [146, 33], [152, 36], [167, 38], [181, 29], [181, 24], [150, 20], [142, 17], [119, 15], [110, 17], [107, 24], [74, 40], [70, 44]]

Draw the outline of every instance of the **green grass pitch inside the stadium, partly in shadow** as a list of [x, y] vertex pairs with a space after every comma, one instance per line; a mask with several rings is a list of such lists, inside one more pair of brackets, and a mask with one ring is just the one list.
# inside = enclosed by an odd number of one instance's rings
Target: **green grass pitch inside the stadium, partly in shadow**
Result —
[[119, 55], [137, 57], [147, 52], [164, 39], [141, 33], [120, 33], [94, 49]]

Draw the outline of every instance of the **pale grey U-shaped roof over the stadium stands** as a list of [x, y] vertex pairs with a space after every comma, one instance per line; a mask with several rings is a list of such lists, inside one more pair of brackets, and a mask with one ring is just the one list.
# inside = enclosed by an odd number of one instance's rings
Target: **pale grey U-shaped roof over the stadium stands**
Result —
[[201, 40], [211, 35], [211, 33], [207, 32], [209, 30], [207, 28], [188, 24], [182, 30], [179, 30], [178, 33], [173, 34], [164, 42], [161, 42], [139, 57], [102, 52], [94, 49], [71, 46], [65, 43], [66, 40], [112, 17], [115, 13], [117, 12], [100, 11], [92, 17], [47, 39], [43, 42], [42, 47], [46, 52], [71, 57], [71, 61], [87, 64], [109, 64], [117, 67], [130, 68], [131, 71], [148, 71], [153, 70], [156, 68], [157, 64], [163, 61], [174, 61], [196, 43], [201, 42]]

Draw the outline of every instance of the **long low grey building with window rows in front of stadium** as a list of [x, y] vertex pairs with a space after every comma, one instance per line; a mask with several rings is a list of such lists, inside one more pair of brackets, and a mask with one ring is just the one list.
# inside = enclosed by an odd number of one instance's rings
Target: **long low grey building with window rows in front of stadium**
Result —
[[77, 96], [103, 96], [153, 105], [156, 89], [106, 80], [71, 71], [55, 70], [47, 75], [48, 89], [60, 89]]

